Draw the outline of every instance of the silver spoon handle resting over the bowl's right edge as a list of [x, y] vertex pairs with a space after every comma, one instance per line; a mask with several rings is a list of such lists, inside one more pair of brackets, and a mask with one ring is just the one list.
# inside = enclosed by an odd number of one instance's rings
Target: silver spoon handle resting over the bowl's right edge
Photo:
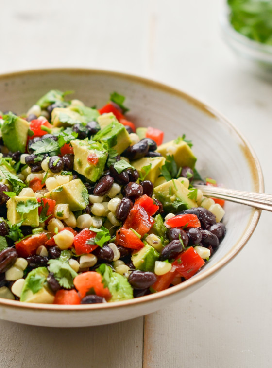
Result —
[[264, 193], [244, 192], [234, 189], [212, 187], [207, 185], [195, 184], [195, 188], [200, 189], [204, 195], [226, 201], [236, 202], [243, 205], [267, 210], [272, 212], [272, 195]]

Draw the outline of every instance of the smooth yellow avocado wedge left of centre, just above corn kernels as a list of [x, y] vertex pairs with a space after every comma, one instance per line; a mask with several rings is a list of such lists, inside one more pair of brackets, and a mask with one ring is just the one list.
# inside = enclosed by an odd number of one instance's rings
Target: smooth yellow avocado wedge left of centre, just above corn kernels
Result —
[[88, 191], [80, 179], [74, 179], [66, 184], [45, 193], [46, 198], [51, 198], [56, 203], [67, 203], [71, 211], [85, 209], [89, 203]]

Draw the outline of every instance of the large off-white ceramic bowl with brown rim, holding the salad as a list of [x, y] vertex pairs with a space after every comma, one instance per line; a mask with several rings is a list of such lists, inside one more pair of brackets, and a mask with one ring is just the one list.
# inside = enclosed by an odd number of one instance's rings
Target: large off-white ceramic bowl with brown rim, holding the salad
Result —
[[[126, 96], [128, 117], [137, 126], [155, 126], [165, 141], [186, 134], [198, 158], [196, 168], [226, 187], [263, 192], [259, 162], [248, 142], [221, 114], [186, 93], [163, 84], [110, 71], [85, 69], [31, 70], [0, 76], [0, 110], [27, 111], [48, 90], [73, 90], [86, 105], [102, 106], [112, 91]], [[260, 212], [225, 204], [227, 233], [204, 268], [165, 291], [132, 300], [93, 305], [48, 305], [0, 298], [0, 318], [38, 326], [80, 327], [146, 315], [187, 296], [216, 276], [246, 244]]]

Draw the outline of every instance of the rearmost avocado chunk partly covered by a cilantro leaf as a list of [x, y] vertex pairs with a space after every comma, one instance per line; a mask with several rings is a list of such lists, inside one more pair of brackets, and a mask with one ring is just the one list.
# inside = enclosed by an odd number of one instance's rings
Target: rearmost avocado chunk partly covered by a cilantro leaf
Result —
[[76, 123], [88, 123], [96, 120], [99, 112], [96, 109], [73, 105], [69, 107], [55, 107], [51, 114], [53, 126], [71, 126]]

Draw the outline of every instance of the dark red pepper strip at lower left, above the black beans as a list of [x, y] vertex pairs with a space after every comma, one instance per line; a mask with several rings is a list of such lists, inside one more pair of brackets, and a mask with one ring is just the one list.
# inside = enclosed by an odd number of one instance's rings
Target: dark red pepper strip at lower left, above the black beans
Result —
[[48, 233], [42, 232], [40, 234], [32, 235], [28, 238], [22, 239], [15, 243], [15, 249], [19, 257], [29, 257], [36, 254], [36, 250], [39, 246], [45, 245], [48, 241]]

